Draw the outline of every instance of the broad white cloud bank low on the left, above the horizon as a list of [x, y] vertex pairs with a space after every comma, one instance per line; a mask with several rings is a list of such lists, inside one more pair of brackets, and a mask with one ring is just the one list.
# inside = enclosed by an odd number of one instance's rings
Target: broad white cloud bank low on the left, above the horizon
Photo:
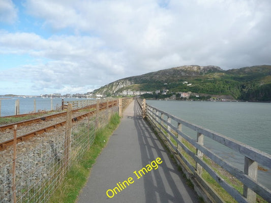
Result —
[[52, 36], [44, 39], [35, 33], [2, 31], [0, 47], [2, 54], [27, 54], [36, 59], [36, 63], [22, 64], [1, 73], [6, 76], [6, 81], [27, 80], [34, 84], [35, 90], [46, 87], [64, 91], [61, 89], [68, 85], [95, 89], [105, 81], [113, 81], [119, 74], [124, 75], [118, 61], [121, 53], [104, 49], [104, 43], [92, 37]]

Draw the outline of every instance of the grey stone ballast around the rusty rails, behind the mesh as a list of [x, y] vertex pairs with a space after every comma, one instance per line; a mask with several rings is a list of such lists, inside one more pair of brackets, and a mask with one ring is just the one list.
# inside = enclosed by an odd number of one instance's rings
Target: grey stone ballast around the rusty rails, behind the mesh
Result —
[[[87, 121], [88, 118], [84, 118], [79, 122], [74, 122], [73, 128], [79, 123]], [[52, 124], [55, 124], [57, 122], [61, 122], [61, 119], [54, 119], [52, 122]], [[27, 133], [29, 131], [33, 131], [33, 129], [43, 128], [45, 127], [44, 125], [49, 126], [52, 124], [41, 122], [32, 126], [22, 126], [20, 128], [20, 133]], [[27, 190], [37, 190], [39, 188], [39, 184], [37, 183], [48, 181], [53, 175], [53, 168], [62, 164], [65, 129], [66, 126], [64, 125], [43, 134], [39, 134], [24, 142], [17, 143], [17, 196], [18, 193], [22, 193], [25, 188], [27, 188]], [[13, 134], [13, 130], [5, 130], [5, 133], [2, 132], [0, 136], [6, 134], [6, 131], [12, 131]], [[6, 139], [8, 137], [9, 135], [6, 136]], [[0, 203], [12, 201], [12, 161], [13, 146], [8, 146], [4, 151], [0, 151]]]

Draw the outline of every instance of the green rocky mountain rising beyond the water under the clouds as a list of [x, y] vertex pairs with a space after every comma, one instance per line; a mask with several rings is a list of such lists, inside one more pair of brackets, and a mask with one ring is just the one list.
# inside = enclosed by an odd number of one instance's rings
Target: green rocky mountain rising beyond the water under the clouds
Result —
[[[109, 83], [94, 94], [121, 95], [124, 91], [191, 92], [226, 95], [229, 98], [270, 101], [271, 65], [257, 65], [224, 71], [218, 66], [184, 65]], [[157, 91], [158, 92], [158, 91]]]

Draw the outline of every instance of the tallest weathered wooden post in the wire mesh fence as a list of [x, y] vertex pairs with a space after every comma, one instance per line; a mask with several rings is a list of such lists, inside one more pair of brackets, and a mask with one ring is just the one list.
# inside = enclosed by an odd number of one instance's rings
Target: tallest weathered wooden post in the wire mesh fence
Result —
[[70, 153], [70, 143], [71, 143], [71, 133], [72, 133], [72, 104], [68, 104], [67, 109], [67, 121], [66, 121], [66, 131], [65, 131], [65, 141], [64, 141], [64, 165], [67, 168], [69, 163], [69, 153]]

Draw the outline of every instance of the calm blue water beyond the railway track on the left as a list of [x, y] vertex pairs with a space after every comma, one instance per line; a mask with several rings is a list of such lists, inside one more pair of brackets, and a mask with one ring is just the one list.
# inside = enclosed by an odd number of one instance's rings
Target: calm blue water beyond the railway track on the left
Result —
[[[42, 98], [42, 97], [2, 97], [9, 99], [1, 99], [1, 116], [10, 116], [15, 114], [15, 101], [20, 100], [20, 114], [27, 114], [34, 111], [34, 99], [36, 100], [36, 111], [38, 110], [51, 110], [52, 107], [55, 110], [57, 107], [61, 107], [62, 98]], [[64, 98], [64, 101], [75, 101], [86, 98]], [[89, 98], [88, 98], [89, 99]]]

